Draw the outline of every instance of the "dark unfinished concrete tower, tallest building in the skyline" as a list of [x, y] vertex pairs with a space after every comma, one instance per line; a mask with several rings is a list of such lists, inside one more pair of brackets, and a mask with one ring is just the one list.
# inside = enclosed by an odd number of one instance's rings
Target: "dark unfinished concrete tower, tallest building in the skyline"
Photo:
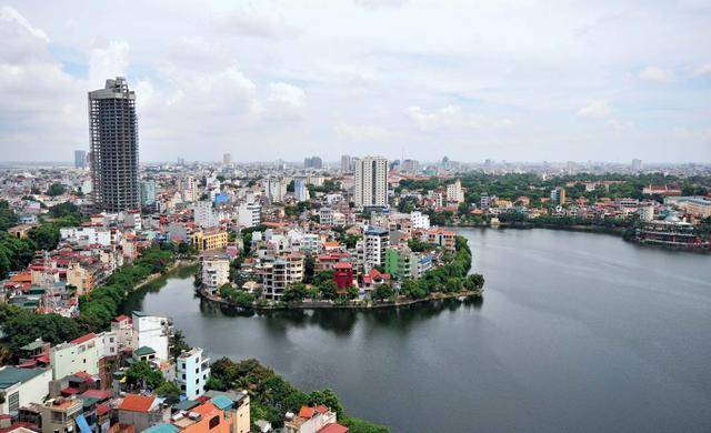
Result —
[[124, 78], [109, 79], [103, 89], [89, 92], [89, 135], [97, 209], [139, 209], [136, 93]]

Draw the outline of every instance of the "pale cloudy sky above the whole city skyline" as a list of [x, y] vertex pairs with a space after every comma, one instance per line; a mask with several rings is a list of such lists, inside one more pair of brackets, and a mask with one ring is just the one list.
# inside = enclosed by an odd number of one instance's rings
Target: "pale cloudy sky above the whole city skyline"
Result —
[[126, 75], [142, 161], [711, 162], [708, 0], [199, 3], [0, 0], [0, 160]]

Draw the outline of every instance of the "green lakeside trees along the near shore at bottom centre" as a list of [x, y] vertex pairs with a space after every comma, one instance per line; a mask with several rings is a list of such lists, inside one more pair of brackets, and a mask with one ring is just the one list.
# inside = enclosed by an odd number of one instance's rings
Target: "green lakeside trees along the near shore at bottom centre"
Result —
[[[220, 391], [248, 390], [252, 422], [267, 420], [274, 427], [283, 426], [286, 412], [298, 413], [303, 405], [324, 404], [338, 414], [339, 423], [349, 426], [351, 433], [384, 433], [389, 431], [384, 426], [346, 414], [339, 397], [331, 390], [304, 393], [257, 360], [233, 362], [222, 358], [216, 361], [211, 365], [208, 387]], [[254, 425], [252, 429], [257, 430]]]

